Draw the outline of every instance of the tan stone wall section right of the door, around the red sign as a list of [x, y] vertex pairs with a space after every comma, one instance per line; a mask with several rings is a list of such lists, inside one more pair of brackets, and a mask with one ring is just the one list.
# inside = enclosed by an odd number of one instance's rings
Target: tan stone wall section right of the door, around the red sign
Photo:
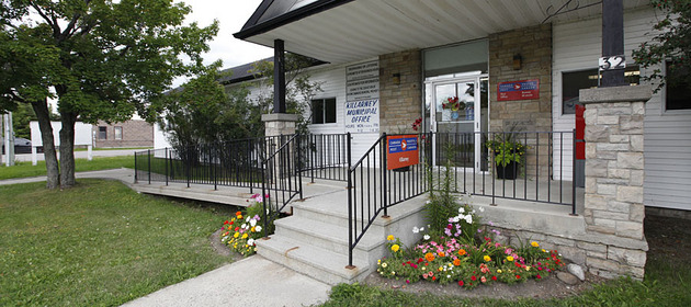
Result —
[[[513, 68], [513, 57], [521, 56], [521, 68]], [[489, 35], [489, 130], [552, 130], [552, 24], [524, 27]], [[498, 101], [497, 86], [501, 82], [540, 80], [540, 98], [534, 100]], [[548, 175], [550, 137], [528, 135], [528, 175]], [[535, 146], [536, 144], [541, 146]], [[540, 148], [540, 152], [536, 152]], [[537, 155], [540, 157], [537, 157]], [[540, 168], [536, 168], [540, 163]]]

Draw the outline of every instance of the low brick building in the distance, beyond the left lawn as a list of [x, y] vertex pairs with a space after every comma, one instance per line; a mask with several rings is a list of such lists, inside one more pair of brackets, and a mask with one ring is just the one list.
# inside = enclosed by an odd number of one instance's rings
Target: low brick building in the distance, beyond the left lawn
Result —
[[[105, 128], [105, 138], [102, 138], [101, 128]], [[122, 132], [121, 139], [115, 139], [116, 128]], [[154, 126], [140, 120], [113, 124], [99, 122], [93, 125], [93, 140], [95, 148], [154, 147]]]

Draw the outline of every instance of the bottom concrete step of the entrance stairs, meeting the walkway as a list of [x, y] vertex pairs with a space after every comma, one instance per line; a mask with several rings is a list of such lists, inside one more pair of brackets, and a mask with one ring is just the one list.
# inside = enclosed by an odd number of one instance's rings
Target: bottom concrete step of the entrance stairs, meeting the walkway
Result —
[[364, 280], [371, 272], [370, 263], [353, 260], [354, 269], [346, 269], [348, 255], [275, 234], [257, 241], [257, 253], [296, 272], [330, 285]]

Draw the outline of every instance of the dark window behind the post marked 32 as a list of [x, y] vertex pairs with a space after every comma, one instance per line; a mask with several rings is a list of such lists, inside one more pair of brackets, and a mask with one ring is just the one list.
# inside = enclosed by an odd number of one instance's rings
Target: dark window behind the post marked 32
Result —
[[[582, 89], [598, 87], [598, 69], [562, 72], [562, 114], [576, 114], [578, 92]], [[624, 80], [631, 84], [638, 84], [641, 73], [637, 66], [626, 67]]]

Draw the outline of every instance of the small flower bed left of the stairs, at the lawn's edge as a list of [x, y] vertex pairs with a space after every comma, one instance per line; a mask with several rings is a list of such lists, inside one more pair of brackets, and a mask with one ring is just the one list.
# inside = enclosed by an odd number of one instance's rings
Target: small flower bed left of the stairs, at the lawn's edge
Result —
[[259, 224], [263, 208], [262, 196], [254, 194], [248, 202], [253, 204], [247, 207], [245, 212], [236, 212], [235, 217], [224, 221], [223, 232], [220, 234], [222, 242], [227, 245], [233, 251], [245, 257], [257, 252], [254, 241], [263, 236], [263, 228]]

